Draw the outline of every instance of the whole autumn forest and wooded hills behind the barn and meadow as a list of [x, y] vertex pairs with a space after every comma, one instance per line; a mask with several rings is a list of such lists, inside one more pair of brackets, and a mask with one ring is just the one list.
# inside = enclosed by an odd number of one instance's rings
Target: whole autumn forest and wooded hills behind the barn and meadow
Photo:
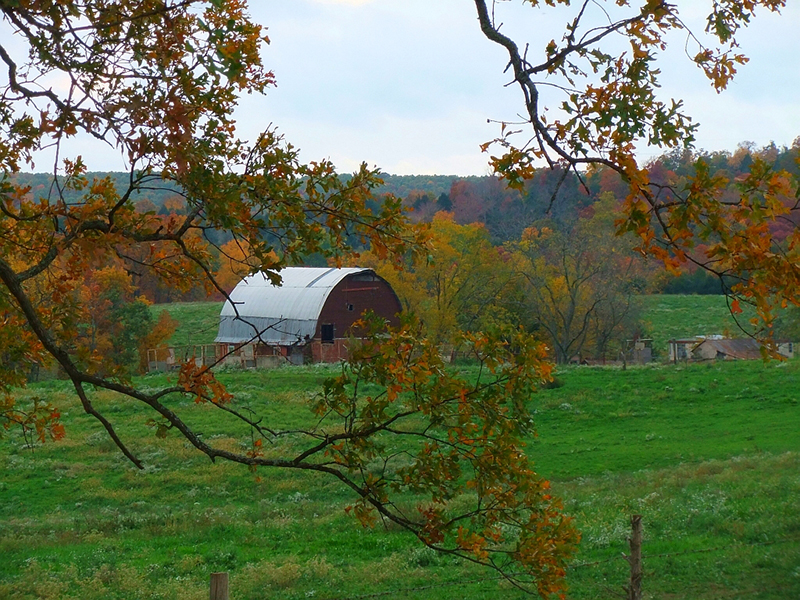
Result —
[[[665, 190], [681, 189], [691, 185], [697, 164], [704, 164], [714, 178], [733, 188], [754, 160], [797, 175], [798, 154], [798, 146], [755, 148], [748, 143], [733, 152], [676, 150], [652, 161], [648, 170]], [[106, 176], [118, 185], [126, 177], [88, 174]], [[19, 174], [16, 179], [30, 187], [32, 196], [46, 193], [52, 183], [44, 174]], [[393, 285], [404, 308], [420, 318], [425, 334], [455, 352], [464, 334], [522, 327], [546, 341], [558, 363], [617, 360], [633, 340], [652, 335], [640, 319], [642, 294], [723, 294], [736, 282], [692, 263], [670, 273], [638, 252], [635, 236], [618, 231], [627, 185], [609, 169], [542, 169], [518, 189], [491, 176], [384, 174], [381, 179], [374, 191], [376, 207], [397, 198], [410, 220], [425, 231], [429, 250], [424, 256], [408, 254], [398, 265], [352, 236], [354, 251], [347, 264], [375, 268]], [[177, 188], [145, 189], [139, 196], [138, 212], [163, 219], [185, 213]], [[785, 199], [787, 204], [791, 201]], [[792, 218], [773, 223], [777, 239], [792, 231]], [[249, 269], [246, 248], [220, 232], [206, 235], [219, 245], [215, 275], [230, 291]], [[698, 257], [704, 251], [703, 244], [694, 248]], [[322, 255], [311, 254], [297, 264], [326, 262]], [[144, 368], [146, 348], [172, 331], [166, 313], [160, 322], [151, 322], [146, 303], [222, 299], [217, 290], [169, 286], [130, 262], [127, 273], [101, 269], [87, 274], [84, 290], [84, 300], [96, 315], [96, 327], [88, 332], [93, 348], [104, 350], [101, 340], [106, 339], [108, 348], [126, 357], [135, 370]], [[793, 314], [779, 315], [773, 335], [795, 335]], [[745, 319], [740, 324], [739, 335], [760, 331]], [[100, 330], [112, 333], [104, 338]]]

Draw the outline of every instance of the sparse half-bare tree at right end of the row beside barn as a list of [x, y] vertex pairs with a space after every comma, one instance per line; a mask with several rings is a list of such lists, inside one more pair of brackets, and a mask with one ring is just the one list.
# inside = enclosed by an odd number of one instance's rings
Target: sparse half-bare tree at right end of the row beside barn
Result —
[[522, 320], [546, 334], [558, 363], [603, 356], [630, 333], [644, 277], [630, 236], [614, 236], [616, 204], [607, 196], [585, 218], [528, 228], [515, 248]]

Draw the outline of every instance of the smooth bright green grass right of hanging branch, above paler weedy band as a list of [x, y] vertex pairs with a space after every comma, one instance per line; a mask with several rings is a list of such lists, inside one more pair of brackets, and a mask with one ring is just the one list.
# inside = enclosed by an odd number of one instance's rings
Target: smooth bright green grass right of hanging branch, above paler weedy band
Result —
[[[581, 367], [533, 399], [548, 477], [800, 451], [797, 362]], [[566, 435], [568, 433], [568, 435]]]

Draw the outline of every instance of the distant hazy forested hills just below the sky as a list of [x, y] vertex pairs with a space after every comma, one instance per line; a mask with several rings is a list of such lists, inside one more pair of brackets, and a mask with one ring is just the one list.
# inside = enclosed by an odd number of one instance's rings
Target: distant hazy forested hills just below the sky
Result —
[[[645, 166], [654, 183], [673, 187], [685, 186], [689, 181], [689, 176], [694, 172], [695, 162], [702, 159], [714, 173], [729, 180], [726, 194], [732, 196], [735, 194], [733, 185], [736, 179], [747, 176], [748, 169], [755, 158], [767, 161], [773, 169], [786, 170], [797, 176], [800, 174], [800, 167], [796, 163], [797, 157], [796, 148], [777, 148], [774, 145], [755, 148], [752, 144], [744, 143], [734, 152], [676, 149], [666, 152]], [[102, 178], [106, 175], [112, 177], [117, 193], [123, 194], [127, 182], [125, 173], [93, 174], [90, 172], [86, 174], [88, 179]], [[533, 179], [525, 182], [523, 190], [509, 188], [496, 176], [426, 177], [382, 174], [381, 178], [384, 183], [376, 188], [375, 194], [389, 193], [402, 197], [403, 205], [413, 209], [409, 215], [413, 221], [429, 222], [437, 212], [453, 212], [454, 219], [459, 224], [480, 222], [486, 225], [492, 243], [495, 245], [519, 239], [526, 227], [541, 219], [552, 218], [559, 221], [574, 219], [576, 214], [594, 204], [605, 193], [611, 193], [620, 199], [624, 199], [628, 194], [627, 184], [619, 174], [604, 166], [591, 167], [586, 172], [578, 174], [564, 173], [560, 167], [553, 170], [540, 169]], [[38, 193], [52, 184], [53, 177], [45, 174], [19, 173], [13, 177], [13, 181], [23, 186], [30, 186], [33, 193]], [[588, 189], [581, 185], [582, 181]], [[554, 201], [556, 192], [558, 202]], [[146, 189], [140, 191], [138, 195], [134, 194], [133, 198], [136, 198], [137, 211], [152, 211], [167, 215], [169, 214], [165, 208], [167, 200], [174, 199], [179, 193], [179, 190], [168, 187], [155, 190]], [[71, 200], [77, 200], [80, 197], [77, 192], [70, 190], [65, 190], [64, 195], [65, 198]], [[178, 207], [180, 206], [178, 205]], [[784, 218], [775, 221], [771, 224], [771, 230], [776, 236], [783, 239], [794, 227], [795, 220]], [[226, 242], [232, 241], [224, 237], [224, 232], [208, 232], [208, 235], [214, 238], [220, 248]], [[703, 247], [702, 244], [699, 245], [698, 252], [702, 251]], [[232, 246], [229, 249], [236, 252]], [[235, 254], [230, 254], [230, 256], [235, 256]], [[225, 268], [226, 260], [222, 254], [220, 254], [218, 262], [219, 268]], [[707, 279], [709, 288], [711, 282], [719, 283], [718, 277], [703, 269], [698, 271], [687, 265], [686, 270], [688, 271], [686, 276], [690, 279], [693, 277]], [[139, 291], [154, 302], [192, 301], [204, 298], [204, 296], [197, 295], [191, 297], [193, 294], [202, 292], [200, 288], [177, 293], [164, 286], [159, 287], [158, 280], [147, 277], [146, 273], [137, 273], [135, 280]], [[727, 284], [726, 287], [729, 288], [730, 285]], [[703, 288], [692, 284], [692, 289]]]

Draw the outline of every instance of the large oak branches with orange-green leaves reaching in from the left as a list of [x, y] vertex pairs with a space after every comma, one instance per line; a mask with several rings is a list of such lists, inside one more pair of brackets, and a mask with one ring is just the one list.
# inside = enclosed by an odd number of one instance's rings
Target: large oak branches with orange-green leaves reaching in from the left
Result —
[[[350, 240], [369, 243], [379, 258], [425, 251], [399, 200], [388, 196], [374, 209], [377, 171], [362, 166], [342, 178], [330, 162], [301, 163], [274, 130], [252, 144], [236, 137], [238, 95], [273, 83], [259, 56], [267, 39], [244, 3], [0, 0], [0, 13], [14, 31], [0, 41], [4, 425], [42, 440], [62, 434], [57, 407], [22, 410], [11, 394], [29, 366], [49, 355], [86, 413], [137, 467], [142, 462], [93, 405], [89, 388], [147, 407], [157, 436], [177, 433], [211, 460], [332, 477], [352, 491], [352, 511], [364, 523], [376, 516], [397, 523], [428, 546], [499, 569], [543, 596], [562, 590], [577, 535], [522, 451], [531, 428], [526, 401], [549, 376], [543, 348], [526, 336], [509, 343], [470, 336], [465, 343], [485, 367], [475, 381], [446, 371], [413, 322], [388, 337], [384, 323], [366, 322], [371, 341], [326, 384], [315, 415], [305, 427], [285, 429], [242, 408], [194, 361], [182, 366], [175, 385], [136, 387], [122, 368], [132, 340], [111, 324], [111, 347], [124, 351], [97, 352], [92, 333], [103, 327], [88, 303], [123, 305], [102, 294], [82, 297], [87, 273], [121, 266], [230, 300], [214, 276], [215, 240], [233, 240], [243, 254], [229, 258], [276, 283], [281, 267], [304, 256], [341, 263]], [[64, 85], [39, 85], [48, 77]], [[89, 180], [81, 157], [61, 156], [64, 140], [79, 134], [106, 142], [127, 161], [121, 190], [108, 177]], [[55, 151], [52, 185], [34, 192], [15, 175], [43, 148]], [[137, 210], [137, 194], [164, 190], [182, 201], [165, 214]], [[252, 339], [260, 333], [253, 327]], [[365, 384], [372, 384], [369, 395]], [[232, 451], [195, 431], [185, 398], [211, 404], [220, 420], [234, 419], [252, 440], [249, 449]], [[402, 452], [392, 438], [402, 440]], [[395, 502], [406, 491], [418, 494], [416, 510]]]

